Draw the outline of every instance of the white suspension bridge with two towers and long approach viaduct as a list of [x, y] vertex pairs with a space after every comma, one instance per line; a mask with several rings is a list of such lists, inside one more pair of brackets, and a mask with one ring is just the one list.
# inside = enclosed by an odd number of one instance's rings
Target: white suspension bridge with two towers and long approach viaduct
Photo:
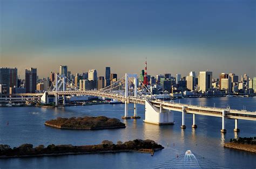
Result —
[[[137, 104], [145, 104], [145, 119], [146, 123], [153, 124], [174, 124], [173, 111], [180, 111], [182, 113], [181, 128], [185, 129], [185, 116], [186, 114], [193, 114], [192, 128], [197, 128], [196, 115], [214, 116], [222, 119], [221, 132], [226, 132], [225, 118], [234, 119], [234, 131], [239, 132], [238, 119], [256, 121], [256, 112], [246, 110], [235, 110], [227, 107], [215, 108], [204, 107], [199, 105], [181, 104], [174, 102], [161, 101], [156, 99], [147, 87], [144, 86], [142, 90], [138, 90], [138, 77], [137, 74], [125, 74], [121, 79], [113, 82], [99, 90], [82, 90], [75, 86], [64, 75], [57, 75], [52, 86], [44, 94], [41, 94], [41, 102], [48, 103], [49, 97], [54, 96], [55, 104], [58, 105], [59, 98], [62, 96], [63, 105], [65, 105], [65, 96], [67, 95], [87, 95], [98, 96], [105, 98], [112, 98], [114, 100], [122, 101], [125, 103], [124, 116], [122, 118], [131, 118], [128, 116], [128, 104], [134, 104], [134, 111], [132, 118], [139, 118], [137, 116]], [[29, 95], [29, 94], [28, 94]], [[32, 95], [32, 94], [31, 94]], [[29, 96], [31, 96], [29, 95]], [[38, 94], [37, 94], [38, 95]]]

